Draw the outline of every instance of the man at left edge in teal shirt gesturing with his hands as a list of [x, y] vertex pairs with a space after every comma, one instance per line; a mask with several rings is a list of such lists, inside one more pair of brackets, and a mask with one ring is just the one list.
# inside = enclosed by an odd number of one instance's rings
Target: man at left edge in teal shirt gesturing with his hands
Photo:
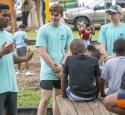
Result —
[[14, 63], [28, 61], [32, 57], [30, 52], [21, 58], [14, 55], [15, 44], [10, 34], [4, 31], [9, 23], [9, 6], [0, 4], [0, 115], [16, 115], [18, 88]]

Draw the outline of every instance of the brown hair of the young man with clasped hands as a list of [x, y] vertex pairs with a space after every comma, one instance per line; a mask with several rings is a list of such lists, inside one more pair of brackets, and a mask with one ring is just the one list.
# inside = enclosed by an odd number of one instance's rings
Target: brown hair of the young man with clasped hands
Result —
[[50, 7], [50, 12], [57, 12], [57, 13], [60, 13], [61, 15], [63, 15], [63, 11], [64, 11], [64, 8], [60, 4], [53, 4]]

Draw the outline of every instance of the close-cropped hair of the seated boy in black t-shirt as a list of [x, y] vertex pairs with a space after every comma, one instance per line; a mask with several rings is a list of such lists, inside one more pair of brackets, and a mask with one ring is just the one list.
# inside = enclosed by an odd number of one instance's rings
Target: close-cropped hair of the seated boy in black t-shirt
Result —
[[70, 50], [74, 55], [78, 55], [85, 52], [86, 47], [82, 40], [75, 39], [70, 44]]

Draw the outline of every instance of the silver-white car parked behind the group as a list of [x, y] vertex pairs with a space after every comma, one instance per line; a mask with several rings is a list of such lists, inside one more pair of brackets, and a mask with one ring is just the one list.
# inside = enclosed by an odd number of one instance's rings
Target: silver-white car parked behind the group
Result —
[[[107, 1], [107, 2], [106, 2]], [[123, 9], [125, 15], [125, 0], [116, 0], [116, 4]], [[81, 24], [94, 24], [101, 26], [107, 22], [105, 10], [112, 5], [112, 0], [91, 0], [84, 7], [67, 10], [64, 14], [64, 21], [78, 29]]]

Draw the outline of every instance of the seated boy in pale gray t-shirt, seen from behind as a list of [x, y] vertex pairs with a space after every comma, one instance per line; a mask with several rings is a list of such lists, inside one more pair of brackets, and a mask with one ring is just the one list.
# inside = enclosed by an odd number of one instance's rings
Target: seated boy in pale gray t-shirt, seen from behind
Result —
[[[118, 39], [114, 42], [114, 52], [116, 57], [108, 60], [102, 70], [103, 87], [108, 83], [107, 95], [118, 93], [121, 84], [121, 78], [125, 71], [125, 40]], [[104, 89], [102, 87], [102, 89]], [[104, 90], [102, 90], [104, 94]]]

